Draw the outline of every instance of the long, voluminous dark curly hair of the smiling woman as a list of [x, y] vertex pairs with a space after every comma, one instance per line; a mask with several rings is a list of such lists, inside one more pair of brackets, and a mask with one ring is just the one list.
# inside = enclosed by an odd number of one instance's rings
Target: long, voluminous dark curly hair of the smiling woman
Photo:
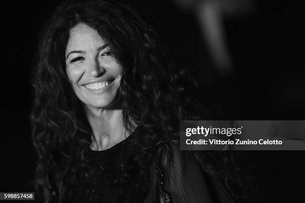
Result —
[[[65, 72], [69, 31], [79, 23], [95, 29], [124, 68], [117, 99], [126, 129], [133, 131], [136, 124], [146, 130], [139, 140], [143, 149], [176, 135], [180, 120], [207, 118], [206, 108], [191, 97], [194, 80], [133, 9], [114, 1], [64, 1], [41, 32], [32, 78], [35, 185], [38, 195], [48, 191], [52, 202], [61, 202], [77, 168], [87, 163], [91, 144], [92, 130]], [[207, 163], [215, 155], [206, 155], [197, 157], [214, 174], [217, 167]]]

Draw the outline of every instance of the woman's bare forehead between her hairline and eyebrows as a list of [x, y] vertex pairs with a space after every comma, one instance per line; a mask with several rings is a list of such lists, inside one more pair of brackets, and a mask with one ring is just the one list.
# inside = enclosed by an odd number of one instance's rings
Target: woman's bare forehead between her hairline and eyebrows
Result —
[[70, 36], [66, 47], [66, 55], [73, 50], [95, 49], [106, 42], [100, 34], [86, 24], [78, 24], [70, 30]]

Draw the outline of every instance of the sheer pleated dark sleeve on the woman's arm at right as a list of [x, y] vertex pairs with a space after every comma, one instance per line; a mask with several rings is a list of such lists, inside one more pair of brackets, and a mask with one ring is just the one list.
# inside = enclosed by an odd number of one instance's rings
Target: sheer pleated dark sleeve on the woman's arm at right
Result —
[[234, 203], [216, 177], [207, 177], [192, 151], [176, 141], [160, 148], [160, 195], [164, 203]]

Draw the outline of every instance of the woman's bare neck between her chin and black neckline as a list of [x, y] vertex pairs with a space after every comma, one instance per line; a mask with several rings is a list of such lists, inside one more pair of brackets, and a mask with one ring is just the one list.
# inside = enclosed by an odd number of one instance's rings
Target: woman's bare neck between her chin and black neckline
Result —
[[85, 113], [93, 131], [92, 150], [109, 149], [130, 135], [124, 126], [121, 109], [93, 109], [85, 106]]

